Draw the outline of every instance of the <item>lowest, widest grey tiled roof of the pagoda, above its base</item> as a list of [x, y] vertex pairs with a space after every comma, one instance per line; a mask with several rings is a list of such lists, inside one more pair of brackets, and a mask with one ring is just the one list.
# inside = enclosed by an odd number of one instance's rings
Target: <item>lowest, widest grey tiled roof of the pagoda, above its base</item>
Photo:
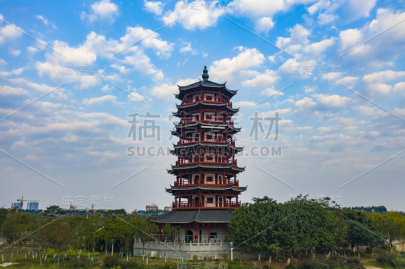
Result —
[[230, 209], [181, 209], [152, 217], [156, 223], [229, 223], [233, 210]]

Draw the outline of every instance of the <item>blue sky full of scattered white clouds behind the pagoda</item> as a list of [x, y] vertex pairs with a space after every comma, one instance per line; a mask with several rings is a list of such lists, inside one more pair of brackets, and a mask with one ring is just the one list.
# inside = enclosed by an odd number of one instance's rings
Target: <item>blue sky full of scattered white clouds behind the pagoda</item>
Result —
[[170, 205], [173, 93], [207, 65], [238, 89], [243, 202], [405, 210], [404, 41], [399, 0], [2, 1], [0, 206]]

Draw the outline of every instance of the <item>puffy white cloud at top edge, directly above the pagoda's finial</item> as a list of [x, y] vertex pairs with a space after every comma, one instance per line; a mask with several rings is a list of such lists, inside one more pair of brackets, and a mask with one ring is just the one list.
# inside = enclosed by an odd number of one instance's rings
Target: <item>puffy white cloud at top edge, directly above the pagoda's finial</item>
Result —
[[178, 1], [173, 11], [167, 12], [162, 20], [165, 24], [179, 22], [187, 30], [205, 29], [217, 24], [225, 14], [224, 9], [215, 6], [216, 2]]

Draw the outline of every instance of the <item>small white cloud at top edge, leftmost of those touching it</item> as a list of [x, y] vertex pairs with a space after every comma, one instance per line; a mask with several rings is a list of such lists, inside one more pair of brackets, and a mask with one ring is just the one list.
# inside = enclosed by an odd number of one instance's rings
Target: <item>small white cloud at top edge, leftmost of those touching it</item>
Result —
[[117, 17], [118, 14], [119, 11], [116, 4], [111, 3], [109, 0], [102, 0], [91, 6], [90, 14], [83, 11], [82, 14], [80, 14], [80, 19], [85, 20], [88, 18], [90, 22], [97, 20], [112, 23], [115, 21], [115, 17]]

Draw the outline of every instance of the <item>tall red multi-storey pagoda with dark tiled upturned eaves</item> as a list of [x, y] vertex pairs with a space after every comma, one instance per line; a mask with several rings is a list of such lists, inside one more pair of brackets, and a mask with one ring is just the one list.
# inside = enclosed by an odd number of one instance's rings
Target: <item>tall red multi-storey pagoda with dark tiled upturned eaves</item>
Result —
[[151, 220], [159, 226], [180, 226], [185, 242], [226, 242], [227, 224], [233, 210], [240, 206], [239, 195], [247, 189], [236, 179], [245, 171], [235, 159], [235, 154], [243, 150], [233, 138], [240, 132], [232, 121], [239, 109], [234, 109], [230, 101], [236, 91], [226, 88], [226, 82], [208, 80], [207, 66], [202, 78], [178, 86], [176, 98], [181, 104], [173, 115], [180, 122], [172, 135], [179, 141], [171, 150], [177, 160], [168, 170], [176, 180], [166, 189], [175, 201], [172, 211]]

